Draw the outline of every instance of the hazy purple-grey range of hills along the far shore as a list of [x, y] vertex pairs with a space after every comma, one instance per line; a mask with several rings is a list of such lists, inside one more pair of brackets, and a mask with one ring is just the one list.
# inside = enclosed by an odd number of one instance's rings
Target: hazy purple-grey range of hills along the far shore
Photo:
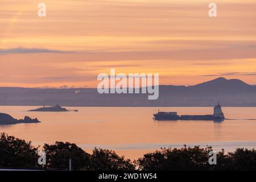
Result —
[[98, 94], [93, 88], [0, 88], [0, 105], [32, 106], [256, 106], [256, 86], [220, 77], [193, 86], [160, 85], [158, 100], [148, 94]]

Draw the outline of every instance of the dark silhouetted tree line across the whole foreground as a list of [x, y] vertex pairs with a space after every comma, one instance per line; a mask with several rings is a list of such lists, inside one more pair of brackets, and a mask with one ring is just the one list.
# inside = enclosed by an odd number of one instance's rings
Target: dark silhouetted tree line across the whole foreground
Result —
[[210, 146], [161, 148], [131, 161], [102, 148], [94, 148], [92, 154], [88, 154], [75, 143], [69, 142], [44, 144], [42, 150], [46, 152], [47, 158], [46, 165], [42, 166], [38, 164], [39, 147], [6, 133], [1, 133], [0, 137], [0, 168], [67, 170], [69, 159], [72, 159], [72, 169], [77, 171], [256, 170], [254, 148], [237, 148], [227, 153], [222, 149], [217, 152], [217, 164], [210, 165]]

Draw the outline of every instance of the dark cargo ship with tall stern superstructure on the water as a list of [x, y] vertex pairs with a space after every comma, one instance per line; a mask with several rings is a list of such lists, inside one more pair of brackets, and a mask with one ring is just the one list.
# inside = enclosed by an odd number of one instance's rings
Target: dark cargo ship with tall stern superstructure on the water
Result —
[[175, 120], [206, 120], [206, 121], [222, 121], [225, 119], [222, 113], [221, 105], [218, 103], [213, 108], [213, 114], [209, 115], [178, 115], [177, 112], [158, 111], [154, 114], [154, 119], [159, 121], [175, 121]]

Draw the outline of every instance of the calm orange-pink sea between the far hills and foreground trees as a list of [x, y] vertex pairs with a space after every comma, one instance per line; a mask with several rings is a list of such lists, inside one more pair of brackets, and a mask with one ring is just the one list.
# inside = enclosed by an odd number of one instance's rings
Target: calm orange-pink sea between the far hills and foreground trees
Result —
[[27, 112], [35, 106], [0, 106], [1, 113], [21, 119], [25, 115], [41, 123], [0, 125], [0, 132], [31, 140], [34, 146], [55, 141], [72, 142], [92, 152], [101, 147], [135, 159], [160, 147], [200, 144], [218, 151], [256, 148], [256, 107], [222, 107], [228, 120], [154, 121], [158, 111], [178, 114], [211, 114], [212, 107], [67, 107], [79, 112]]

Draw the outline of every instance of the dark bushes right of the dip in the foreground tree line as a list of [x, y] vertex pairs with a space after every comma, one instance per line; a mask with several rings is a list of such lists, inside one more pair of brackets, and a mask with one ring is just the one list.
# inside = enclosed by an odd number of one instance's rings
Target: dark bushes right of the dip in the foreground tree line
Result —
[[160, 151], [150, 152], [139, 158], [136, 163], [141, 170], [256, 170], [256, 151], [237, 148], [235, 152], [225, 151], [217, 153], [217, 164], [210, 165], [209, 152], [212, 147], [200, 148], [162, 148]]

